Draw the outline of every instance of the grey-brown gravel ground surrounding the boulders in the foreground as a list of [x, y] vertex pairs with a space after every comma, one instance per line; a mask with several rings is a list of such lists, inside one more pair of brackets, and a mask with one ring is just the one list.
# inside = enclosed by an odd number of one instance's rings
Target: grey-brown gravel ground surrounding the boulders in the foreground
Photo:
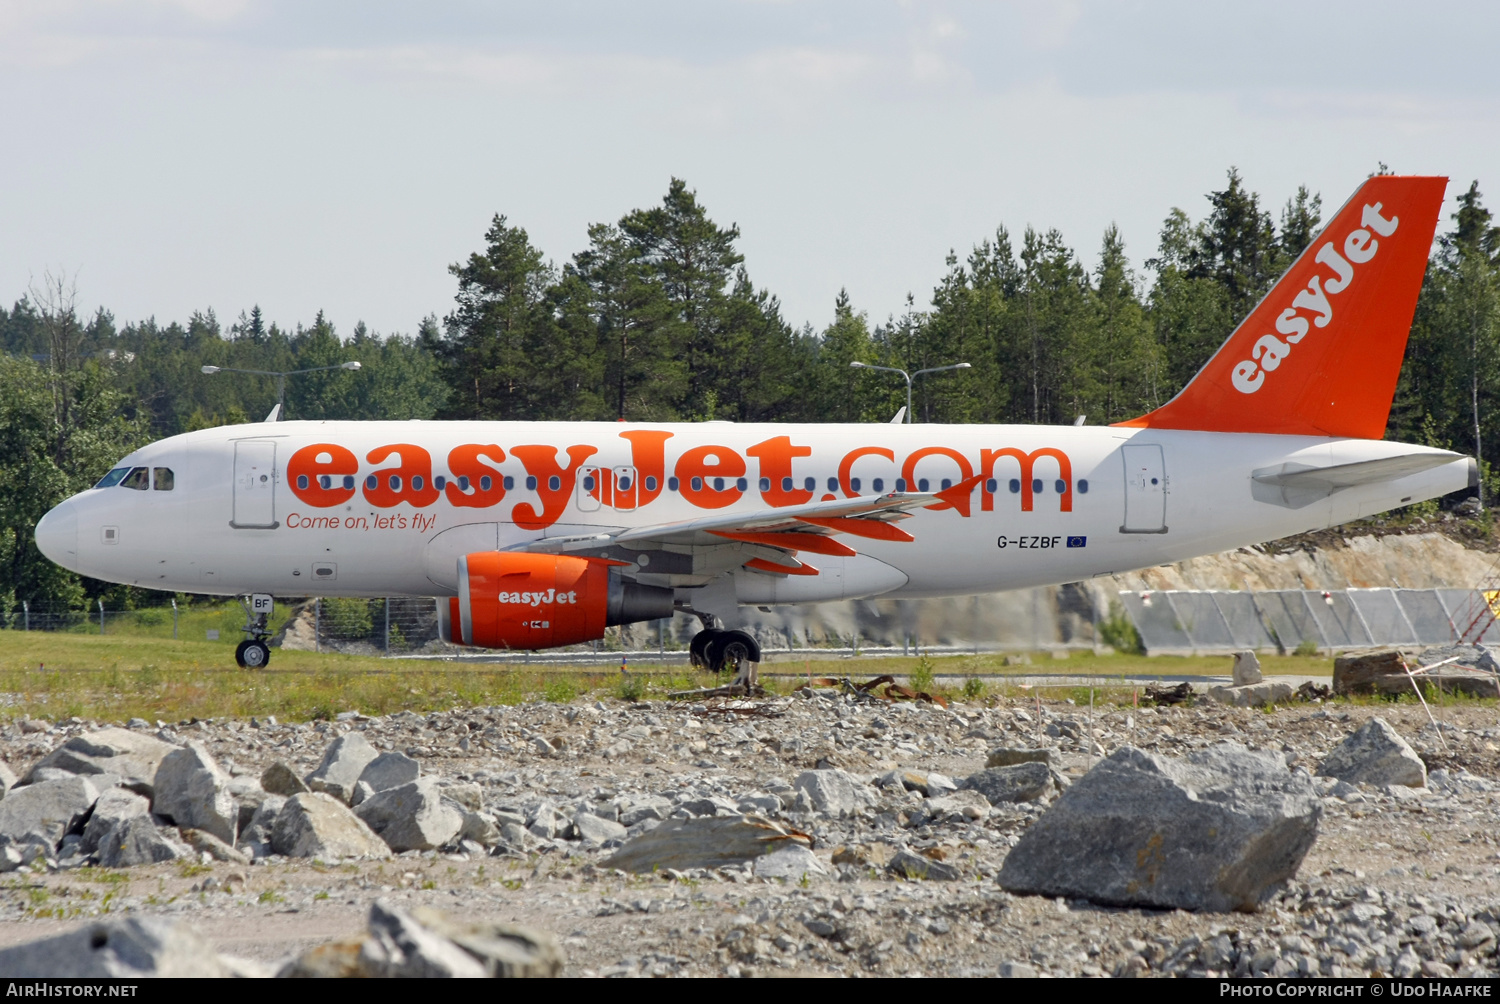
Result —
[[[1317, 843], [1298, 879], [1257, 914], [1114, 909], [1002, 891], [994, 875], [1044, 804], [996, 806], [980, 819], [932, 818], [921, 792], [886, 786], [872, 788], [873, 806], [840, 819], [808, 810], [792, 789], [802, 770], [819, 764], [862, 780], [890, 770], [958, 779], [984, 767], [996, 746], [1056, 747], [1062, 773], [1077, 777], [1092, 759], [1084, 746], [1090, 716], [1064, 702], [1044, 701], [1040, 720], [1035, 701], [944, 710], [822, 690], [756, 702], [742, 714], [609, 701], [345, 714], [314, 725], [134, 722], [172, 741], [196, 740], [225, 770], [250, 777], [278, 759], [306, 773], [336, 735], [358, 729], [382, 750], [418, 758], [426, 774], [480, 785], [496, 822], [519, 816], [530, 833], [495, 852], [471, 845], [471, 852], [388, 861], [270, 857], [249, 866], [12, 872], [0, 876], [0, 944], [105, 911], [136, 911], [182, 917], [222, 951], [274, 962], [358, 933], [369, 903], [386, 896], [552, 930], [574, 975], [1494, 975], [1494, 707], [1436, 710], [1443, 741], [1418, 705], [1101, 707], [1092, 714], [1094, 756], [1124, 744], [1173, 755], [1230, 740], [1316, 771], [1376, 713], [1426, 759], [1428, 789], [1320, 780]], [[21, 774], [98, 725], [12, 723], [0, 729], [0, 756]], [[666, 815], [778, 818], [814, 836], [826, 873], [801, 881], [753, 878], [747, 869], [630, 876], [602, 866], [610, 849], [556, 834], [579, 807], [626, 822], [652, 804]], [[878, 864], [898, 846], [960, 876], [891, 876]]]

